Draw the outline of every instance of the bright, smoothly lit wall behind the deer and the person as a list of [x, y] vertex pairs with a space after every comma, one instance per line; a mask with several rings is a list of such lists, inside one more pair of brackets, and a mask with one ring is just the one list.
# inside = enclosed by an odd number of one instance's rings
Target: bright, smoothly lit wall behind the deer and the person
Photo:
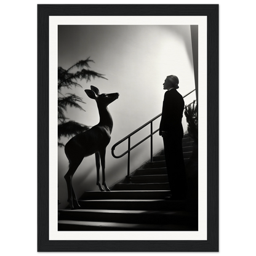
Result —
[[[111, 147], [121, 138], [142, 126], [161, 113], [165, 91], [162, 84], [166, 76], [175, 74], [180, 80], [178, 92], [185, 95], [194, 89], [193, 56], [190, 25], [90, 25], [58, 26], [58, 66], [70, 68], [79, 60], [90, 57], [91, 69], [105, 74], [105, 79], [79, 82], [82, 88], [63, 90], [83, 98], [86, 111], [68, 109], [66, 116], [71, 120], [94, 126], [99, 121], [97, 104], [87, 97], [84, 89], [90, 85], [101, 93], [119, 92], [119, 98], [109, 105], [114, 121], [111, 142], [106, 149], [106, 182], [113, 185], [127, 174], [127, 157], [115, 159]], [[185, 98], [185, 104], [196, 98], [195, 93]], [[185, 117], [183, 118], [186, 130]], [[159, 121], [154, 124], [158, 129]], [[132, 145], [150, 132], [150, 126], [142, 130]], [[154, 135], [154, 153], [163, 148], [162, 138]], [[66, 143], [67, 138], [62, 142]], [[150, 140], [131, 153], [131, 172], [150, 159]], [[127, 143], [116, 148], [116, 154], [127, 150]], [[58, 148], [58, 199], [60, 209], [66, 207], [67, 190], [64, 175], [68, 170], [64, 148]], [[95, 157], [82, 161], [73, 177], [76, 195], [84, 191], [98, 190], [96, 185]]]

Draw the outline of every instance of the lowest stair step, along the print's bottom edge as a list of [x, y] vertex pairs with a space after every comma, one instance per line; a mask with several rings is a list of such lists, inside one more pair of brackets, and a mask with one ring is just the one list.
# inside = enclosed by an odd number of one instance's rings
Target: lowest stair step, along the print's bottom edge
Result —
[[117, 222], [81, 222], [59, 220], [58, 231], [196, 231], [198, 228], [177, 224], [138, 224]]

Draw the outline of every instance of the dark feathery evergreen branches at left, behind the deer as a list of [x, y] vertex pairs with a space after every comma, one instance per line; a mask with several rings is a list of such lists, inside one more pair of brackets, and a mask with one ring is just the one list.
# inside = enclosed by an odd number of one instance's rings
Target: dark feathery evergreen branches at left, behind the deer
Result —
[[[79, 84], [79, 81], [85, 79], [86, 82], [89, 82], [91, 78], [103, 78], [104, 74], [97, 73], [95, 71], [90, 70], [90, 62], [94, 62], [90, 60], [90, 57], [86, 60], [79, 60], [79, 62], [75, 63], [73, 66], [65, 70], [61, 66], [58, 67], [58, 139], [61, 137], [71, 137], [77, 135], [85, 130], [88, 130], [89, 127], [85, 126], [84, 124], [79, 124], [75, 121], [68, 121], [66, 120], [65, 113], [67, 107], [74, 107], [78, 108], [79, 110], [85, 111], [79, 103], [85, 103], [82, 101], [82, 98], [77, 96], [76, 94], [66, 94], [63, 95], [61, 90], [62, 88], [72, 89], [73, 87], [82, 87]], [[78, 71], [72, 72], [73, 69]], [[64, 146], [63, 143], [58, 142], [58, 146]]]

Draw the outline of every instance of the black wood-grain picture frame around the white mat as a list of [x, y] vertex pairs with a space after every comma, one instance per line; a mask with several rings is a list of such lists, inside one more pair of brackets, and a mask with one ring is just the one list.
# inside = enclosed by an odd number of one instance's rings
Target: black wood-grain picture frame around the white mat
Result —
[[[207, 16], [207, 240], [49, 240], [50, 15]], [[36, 255], [222, 254], [222, 4], [220, 2], [38, 2], [35, 4], [34, 253]]]

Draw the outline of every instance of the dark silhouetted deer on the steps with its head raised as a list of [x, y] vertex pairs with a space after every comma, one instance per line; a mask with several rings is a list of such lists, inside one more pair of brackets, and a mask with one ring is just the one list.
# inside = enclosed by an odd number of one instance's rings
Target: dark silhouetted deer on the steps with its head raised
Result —
[[[91, 89], [91, 90], [90, 90]], [[118, 92], [112, 94], [100, 94], [100, 91], [95, 86], [90, 86], [90, 89], [84, 90], [89, 98], [96, 101], [100, 122], [91, 127], [89, 130], [75, 135], [65, 145], [65, 154], [70, 162], [68, 172], [64, 178], [68, 187], [68, 202], [71, 209], [79, 209], [81, 206], [78, 203], [76, 194], [74, 193], [72, 178], [82, 160], [87, 156], [95, 154], [95, 162], [97, 169], [97, 185], [100, 191], [110, 191], [105, 180], [105, 154], [106, 146], [110, 143], [111, 132], [113, 129], [113, 119], [108, 105], [118, 99]], [[102, 164], [102, 185], [100, 185], [100, 162]]]

